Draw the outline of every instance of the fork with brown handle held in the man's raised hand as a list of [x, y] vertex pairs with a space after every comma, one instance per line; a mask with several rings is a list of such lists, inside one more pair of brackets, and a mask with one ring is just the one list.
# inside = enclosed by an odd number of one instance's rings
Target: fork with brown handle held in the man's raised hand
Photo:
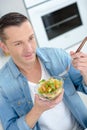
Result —
[[[86, 41], [87, 41], [87, 37], [85, 37], [85, 38], [83, 39], [82, 43], [81, 43], [80, 46], [77, 48], [77, 50], [76, 50], [75, 53], [80, 52], [80, 50], [82, 49], [82, 47], [84, 46], [84, 44], [86, 43]], [[69, 65], [67, 66], [67, 68], [66, 68], [65, 71], [63, 71], [62, 73], [59, 74], [59, 77], [63, 77], [65, 74], [68, 73], [68, 71], [69, 71], [69, 69], [70, 69], [70, 65], [71, 65], [71, 64], [69, 64]]]

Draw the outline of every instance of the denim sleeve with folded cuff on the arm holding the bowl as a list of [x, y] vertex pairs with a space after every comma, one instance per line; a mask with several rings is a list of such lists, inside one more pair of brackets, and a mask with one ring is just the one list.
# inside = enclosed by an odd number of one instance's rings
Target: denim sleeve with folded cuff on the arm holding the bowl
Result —
[[2, 89], [0, 89], [0, 118], [3, 128], [6, 130], [32, 130], [27, 125], [25, 116], [18, 117], [1, 92]]

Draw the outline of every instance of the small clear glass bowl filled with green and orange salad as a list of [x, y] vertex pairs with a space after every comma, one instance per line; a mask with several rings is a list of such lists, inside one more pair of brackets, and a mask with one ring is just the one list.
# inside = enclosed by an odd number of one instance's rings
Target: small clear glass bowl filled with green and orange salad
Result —
[[63, 79], [61, 77], [51, 77], [47, 80], [42, 79], [39, 81], [36, 88], [37, 94], [42, 99], [55, 99], [63, 90]]

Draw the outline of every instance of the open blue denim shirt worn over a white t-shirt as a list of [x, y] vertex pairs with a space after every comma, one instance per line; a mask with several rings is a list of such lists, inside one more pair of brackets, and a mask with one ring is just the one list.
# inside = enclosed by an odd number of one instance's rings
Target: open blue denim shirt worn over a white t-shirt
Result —
[[[70, 56], [58, 48], [37, 48], [37, 56], [51, 76], [57, 76], [71, 63]], [[64, 77], [64, 102], [83, 128], [87, 128], [87, 109], [77, 90], [87, 94], [87, 86], [79, 71], [71, 65]], [[40, 130], [38, 122], [31, 129], [25, 115], [32, 109], [26, 77], [18, 70], [12, 58], [0, 70], [0, 119], [5, 130]]]

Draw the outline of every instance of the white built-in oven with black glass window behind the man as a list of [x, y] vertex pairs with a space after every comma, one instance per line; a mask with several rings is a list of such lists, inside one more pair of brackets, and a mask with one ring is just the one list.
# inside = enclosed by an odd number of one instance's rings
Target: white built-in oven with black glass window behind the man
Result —
[[39, 47], [67, 49], [87, 35], [86, 0], [49, 0], [27, 8]]

